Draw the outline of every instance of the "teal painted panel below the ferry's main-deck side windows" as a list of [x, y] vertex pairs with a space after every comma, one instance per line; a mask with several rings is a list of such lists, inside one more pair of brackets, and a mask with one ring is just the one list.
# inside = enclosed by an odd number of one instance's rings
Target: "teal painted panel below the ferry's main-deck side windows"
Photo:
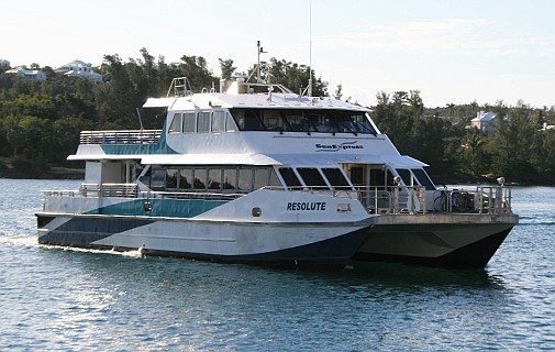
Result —
[[[202, 199], [135, 199], [88, 211], [88, 215], [192, 218], [229, 200]], [[151, 210], [147, 210], [149, 204]], [[146, 208], [146, 209], [145, 209]]]

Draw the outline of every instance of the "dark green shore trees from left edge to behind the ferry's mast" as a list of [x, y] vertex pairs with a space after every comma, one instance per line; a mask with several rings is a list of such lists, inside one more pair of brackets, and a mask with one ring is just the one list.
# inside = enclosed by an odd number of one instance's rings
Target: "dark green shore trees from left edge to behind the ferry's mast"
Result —
[[[45, 66], [45, 81], [0, 73], [0, 156], [12, 157], [15, 167], [34, 172], [44, 165], [66, 164], [75, 153], [81, 130], [140, 129], [137, 108], [148, 97], [165, 97], [171, 80], [187, 77], [195, 92], [219, 88], [220, 77], [208, 68], [201, 56], [181, 56], [177, 64], [166, 64], [164, 57], [153, 57], [146, 48], [140, 58], [122, 59], [106, 55], [100, 67], [103, 81], [68, 77]], [[219, 59], [223, 78], [230, 78], [236, 67], [232, 59]], [[279, 82], [292, 89], [308, 86], [309, 70], [304, 65], [273, 58], [268, 68]], [[33, 67], [40, 68], [38, 64]], [[313, 77], [314, 73], [312, 72]], [[314, 95], [325, 92], [325, 84], [313, 78]], [[160, 129], [164, 109], [140, 110], [145, 129]]]

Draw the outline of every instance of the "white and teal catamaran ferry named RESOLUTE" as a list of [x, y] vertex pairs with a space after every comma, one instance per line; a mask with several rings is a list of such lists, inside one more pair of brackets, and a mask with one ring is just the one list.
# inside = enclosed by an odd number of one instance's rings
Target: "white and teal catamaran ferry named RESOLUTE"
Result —
[[219, 262], [482, 267], [518, 216], [504, 185], [439, 188], [367, 108], [279, 84], [187, 78], [160, 130], [82, 131], [85, 182], [44, 191], [38, 242]]

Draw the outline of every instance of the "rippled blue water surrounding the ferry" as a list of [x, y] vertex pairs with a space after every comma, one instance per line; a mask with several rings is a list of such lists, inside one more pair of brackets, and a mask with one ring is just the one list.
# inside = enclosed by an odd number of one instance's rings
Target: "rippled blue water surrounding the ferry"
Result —
[[555, 187], [513, 189], [521, 224], [485, 270], [279, 271], [41, 246], [41, 189], [0, 179], [0, 350], [555, 349]]

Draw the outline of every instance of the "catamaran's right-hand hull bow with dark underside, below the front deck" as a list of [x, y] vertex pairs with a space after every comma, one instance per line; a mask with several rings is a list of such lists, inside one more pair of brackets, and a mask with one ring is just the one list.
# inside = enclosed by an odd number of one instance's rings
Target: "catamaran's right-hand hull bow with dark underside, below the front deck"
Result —
[[478, 268], [487, 265], [514, 224], [514, 215], [378, 217], [355, 261]]

